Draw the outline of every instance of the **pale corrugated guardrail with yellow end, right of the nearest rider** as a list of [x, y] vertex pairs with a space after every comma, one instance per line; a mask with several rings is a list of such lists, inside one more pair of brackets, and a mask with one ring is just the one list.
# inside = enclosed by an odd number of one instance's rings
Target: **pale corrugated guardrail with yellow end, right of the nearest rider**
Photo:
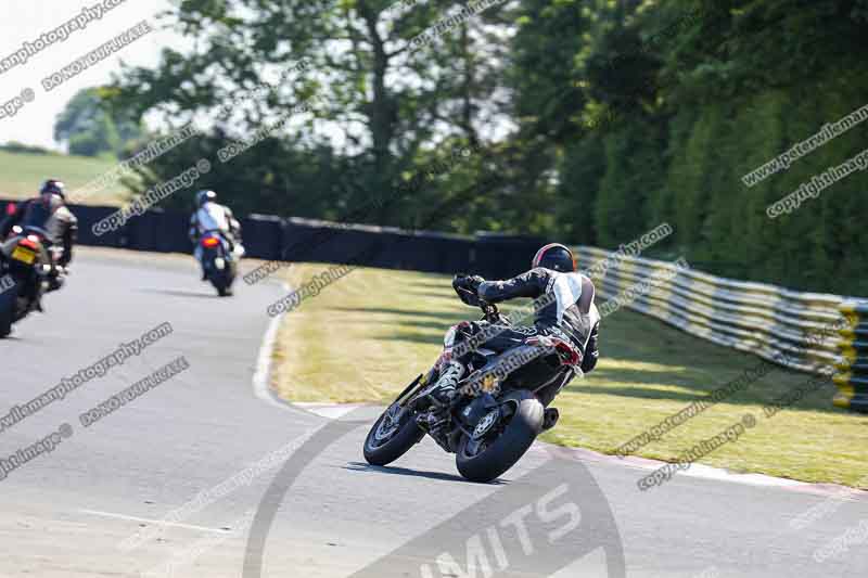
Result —
[[[613, 254], [579, 246], [576, 255], [580, 268], [587, 270]], [[653, 285], [651, 291], [636, 292], [625, 306], [718, 345], [773, 362], [786, 356], [787, 367], [809, 373], [834, 368], [840, 390], [834, 403], [868, 410], [868, 304], [628, 256], [618, 256], [593, 281], [605, 299], [642, 284]]]

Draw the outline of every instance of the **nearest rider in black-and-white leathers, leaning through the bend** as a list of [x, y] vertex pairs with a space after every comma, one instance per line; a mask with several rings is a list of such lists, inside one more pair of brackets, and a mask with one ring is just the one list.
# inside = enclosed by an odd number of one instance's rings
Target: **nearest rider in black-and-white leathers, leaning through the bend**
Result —
[[[452, 285], [459, 291], [461, 300], [478, 305], [480, 299], [496, 304], [516, 297], [535, 299], [541, 307], [534, 313], [533, 326], [492, 325], [486, 322], [467, 323], [471, 335], [484, 331], [490, 338], [478, 348], [505, 354], [526, 345], [536, 336], [551, 336], [572, 344], [582, 355], [580, 369], [589, 373], [597, 365], [599, 350], [597, 342], [600, 313], [593, 304], [595, 287], [587, 277], [575, 271], [573, 253], [564, 245], [551, 243], [540, 248], [534, 257], [532, 269], [508, 281], [485, 281], [478, 275], [456, 277]], [[548, 304], [548, 305], [546, 305]], [[456, 342], [458, 347], [459, 342]], [[442, 402], [443, 409], [434, 409], [427, 416], [429, 431], [436, 432], [448, 421], [448, 402], [456, 396], [456, 386], [467, 372], [468, 356], [451, 359], [439, 370], [439, 377], [432, 394]], [[571, 374], [564, 387], [574, 374]], [[544, 400], [548, 406], [551, 399]]]

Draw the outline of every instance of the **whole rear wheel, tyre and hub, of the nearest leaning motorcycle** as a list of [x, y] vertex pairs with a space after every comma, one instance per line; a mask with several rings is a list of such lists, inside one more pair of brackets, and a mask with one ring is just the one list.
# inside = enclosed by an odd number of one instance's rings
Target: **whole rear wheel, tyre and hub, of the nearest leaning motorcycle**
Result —
[[542, 431], [545, 408], [531, 391], [510, 394], [500, 408], [476, 426], [478, 438], [463, 435], [458, 444], [456, 466], [471, 481], [492, 481], [515, 465]]

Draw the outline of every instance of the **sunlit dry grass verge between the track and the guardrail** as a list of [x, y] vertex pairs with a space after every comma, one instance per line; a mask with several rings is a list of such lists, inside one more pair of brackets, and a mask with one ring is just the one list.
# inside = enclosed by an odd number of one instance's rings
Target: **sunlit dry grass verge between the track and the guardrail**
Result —
[[[296, 265], [291, 283], [324, 271]], [[475, 319], [449, 278], [359, 268], [288, 313], [275, 351], [273, 385], [293, 401], [390, 402], [436, 359], [449, 325]], [[598, 304], [599, 305], [599, 304]], [[600, 331], [597, 370], [554, 401], [561, 421], [544, 439], [613, 453], [614, 448], [739, 377], [758, 358], [720, 347], [627, 310]], [[636, 455], [674, 461], [746, 413], [756, 426], [701, 463], [805, 481], [865, 484], [868, 416], [831, 404], [828, 384], [766, 418], [763, 407], [812, 376], [775, 369]], [[868, 487], [866, 487], [868, 489]]]

